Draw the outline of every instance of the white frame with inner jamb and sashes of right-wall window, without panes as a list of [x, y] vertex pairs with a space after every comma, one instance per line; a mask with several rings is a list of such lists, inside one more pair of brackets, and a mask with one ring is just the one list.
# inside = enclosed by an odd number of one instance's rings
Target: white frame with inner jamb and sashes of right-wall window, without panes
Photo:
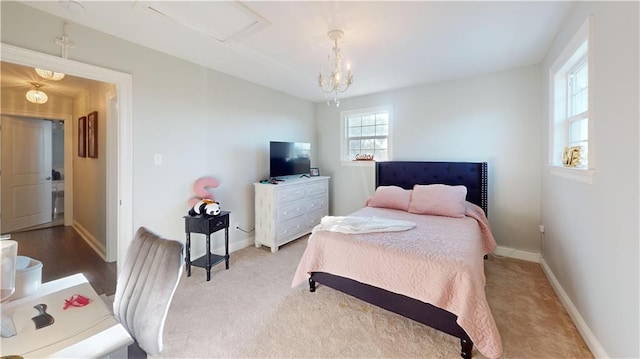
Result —
[[[549, 146], [547, 167], [553, 175], [584, 183], [593, 183], [594, 131], [593, 131], [593, 41], [592, 17], [580, 26], [571, 41], [549, 69]], [[569, 116], [569, 89], [567, 77], [577, 68], [587, 65], [587, 110]], [[571, 143], [570, 123], [586, 118], [587, 150], [584, 167], [564, 167], [562, 148]]]

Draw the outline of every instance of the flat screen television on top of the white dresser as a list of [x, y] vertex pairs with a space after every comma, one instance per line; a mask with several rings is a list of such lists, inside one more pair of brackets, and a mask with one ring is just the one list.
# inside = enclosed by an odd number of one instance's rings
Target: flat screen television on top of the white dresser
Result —
[[311, 144], [277, 142], [269, 144], [269, 176], [271, 178], [308, 175], [311, 171]]

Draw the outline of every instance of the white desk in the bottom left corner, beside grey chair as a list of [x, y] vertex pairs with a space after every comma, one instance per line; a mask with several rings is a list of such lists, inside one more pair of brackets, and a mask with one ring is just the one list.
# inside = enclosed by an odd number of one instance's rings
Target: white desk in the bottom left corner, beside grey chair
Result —
[[[81, 294], [91, 301], [84, 307], [63, 310], [64, 300]], [[37, 329], [34, 305], [44, 303], [55, 322]], [[2, 338], [0, 352], [26, 358], [114, 358], [125, 357], [133, 339], [118, 323], [87, 278], [75, 274], [42, 284], [38, 292], [2, 305], [13, 318], [17, 335]]]

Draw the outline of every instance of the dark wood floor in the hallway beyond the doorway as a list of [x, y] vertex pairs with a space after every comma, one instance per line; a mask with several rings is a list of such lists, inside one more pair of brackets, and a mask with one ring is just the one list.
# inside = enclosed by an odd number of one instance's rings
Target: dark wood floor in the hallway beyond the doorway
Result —
[[42, 262], [42, 282], [83, 273], [98, 294], [116, 291], [116, 262], [105, 262], [72, 228], [57, 226], [11, 234], [18, 255]]

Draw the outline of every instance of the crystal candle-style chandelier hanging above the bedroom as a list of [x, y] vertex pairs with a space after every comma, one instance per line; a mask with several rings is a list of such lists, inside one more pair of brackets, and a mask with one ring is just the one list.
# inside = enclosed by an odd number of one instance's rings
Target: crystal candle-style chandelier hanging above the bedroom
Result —
[[343, 77], [345, 71], [342, 68], [342, 53], [338, 47], [338, 40], [342, 39], [344, 32], [342, 30], [331, 30], [327, 33], [329, 39], [333, 41], [332, 53], [327, 57], [329, 60], [329, 69], [331, 74], [329, 76], [323, 76], [322, 71], [318, 76], [318, 86], [322, 89], [327, 97], [327, 105], [329, 105], [330, 97], [333, 97], [333, 102], [336, 107], [340, 106], [340, 99], [338, 94], [347, 91], [349, 86], [353, 83], [353, 74], [351, 73], [351, 65], [346, 66], [346, 76]]

